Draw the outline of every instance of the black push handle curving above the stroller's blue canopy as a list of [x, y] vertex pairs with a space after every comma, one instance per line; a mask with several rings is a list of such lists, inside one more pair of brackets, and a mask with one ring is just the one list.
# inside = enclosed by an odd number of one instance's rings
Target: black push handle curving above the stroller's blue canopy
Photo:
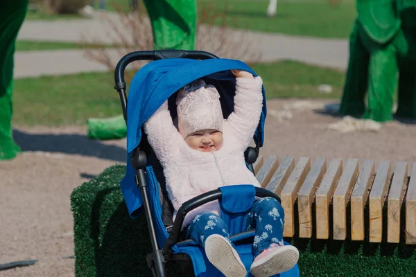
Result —
[[121, 108], [123, 109], [124, 120], [127, 122], [127, 96], [124, 82], [125, 68], [131, 62], [138, 60], [162, 60], [167, 58], [189, 58], [194, 60], [207, 60], [218, 58], [216, 55], [205, 51], [186, 51], [186, 50], [155, 50], [155, 51], [135, 51], [128, 53], [119, 60], [114, 71], [114, 81], [116, 89], [120, 95]]

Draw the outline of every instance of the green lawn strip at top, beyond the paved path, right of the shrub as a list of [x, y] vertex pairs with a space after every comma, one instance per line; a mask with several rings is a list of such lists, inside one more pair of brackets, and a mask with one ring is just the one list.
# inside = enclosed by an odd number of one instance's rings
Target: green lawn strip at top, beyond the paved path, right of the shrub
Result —
[[353, 0], [339, 6], [327, 0], [282, 0], [275, 17], [266, 16], [268, 0], [198, 0], [198, 10], [208, 7], [214, 7], [213, 14], [226, 12], [225, 23], [234, 28], [309, 37], [348, 37], [356, 17]]

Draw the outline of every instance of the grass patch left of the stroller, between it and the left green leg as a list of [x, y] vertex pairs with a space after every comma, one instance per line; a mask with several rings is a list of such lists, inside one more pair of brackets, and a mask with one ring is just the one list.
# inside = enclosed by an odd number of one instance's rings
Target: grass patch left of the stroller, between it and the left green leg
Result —
[[85, 125], [89, 117], [121, 113], [112, 73], [48, 76], [15, 81], [17, 125]]

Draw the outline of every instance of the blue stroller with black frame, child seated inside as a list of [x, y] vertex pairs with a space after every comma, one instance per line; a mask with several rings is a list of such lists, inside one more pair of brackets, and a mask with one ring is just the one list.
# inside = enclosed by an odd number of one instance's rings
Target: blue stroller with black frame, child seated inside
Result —
[[[127, 102], [124, 71], [130, 62], [137, 60], [154, 62], [146, 64], [137, 72], [132, 80]], [[142, 212], [146, 215], [153, 247], [153, 252], [148, 254], [146, 260], [153, 276], [166, 276], [165, 264], [171, 260], [178, 262], [184, 269], [190, 269], [195, 276], [223, 276], [207, 260], [205, 251], [193, 240], [184, 240], [184, 234], [181, 233], [185, 215], [211, 201], [219, 202], [221, 217], [229, 226], [230, 239], [236, 245], [236, 250], [248, 269], [248, 276], [251, 276], [252, 242], [255, 234], [254, 230], [243, 230], [243, 220], [254, 202], [254, 195], [274, 197], [280, 201], [279, 197], [269, 190], [237, 184], [190, 199], [180, 207], [175, 222], [172, 220], [173, 206], [167, 196], [162, 166], [148, 144], [143, 125], [166, 99], [171, 116], [175, 118], [175, 92], [185, 84], [200, 78], [218, 89], [223, 115], [227, 118], [234, 110], [235, 78], [231, 69], [249, 71], [256, 75], [243, 62], [219, 59], [203, 51], [137, 51], [125, 55], [116, 66], [114, 89], [119, 91], [128, 129], [128, 165], [120, 186], [130, 217], [135, 218]], [[252, 172], [252, 163], [256, 161], [259, 148], [263, 145], [263, 126], [266, 118], [264, 89], [263, 99], [261, 120], [254, 134], [256, 146], [245, 151], [245, 161]], [[239, 193], [236, 193], [237, 190]], [[227, 208], [230, 206], [239, 207], [236, 209], [238, 211]], [[280, 276], [299, 276], [299, 268], [295, 265]]]

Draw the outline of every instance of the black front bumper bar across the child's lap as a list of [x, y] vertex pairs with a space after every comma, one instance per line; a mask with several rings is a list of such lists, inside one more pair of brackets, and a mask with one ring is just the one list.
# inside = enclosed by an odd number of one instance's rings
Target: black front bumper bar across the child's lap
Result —
[[[280, 197], [275, 195], [275, 193], [272, 193], [270, 190], [266, 190], [265, 188], [259, 187], [255, 187], [255, 189], [257, 197], [272, 197], [275, 198], [277, 201], [281, 202]], [[184, 202], [184, 204], [182, 204], [182, 206], [180, 206], [179, 210], [177, 211], [175, 222], [173, 222], [172, 232], [171, 235], [169, 235], [166, 239], [166, 242], [163, 247], [163, 253], [166, 255], [168, 251], [170, 251], [170, 249], [173, 247], [173, 245], [179, 242], [180, 229], [182, 228], [182, 224], [187, 213], [211, 201], [219, 200], [221, 199], [221, 197], [221, 190], [217, 188], [216, 190], [211, 190], [207, 193], [202, 193], [202, 195], [198, 195], [197, 197], [193, 197], [192, 199], [189, 199], [187, 202]]]

